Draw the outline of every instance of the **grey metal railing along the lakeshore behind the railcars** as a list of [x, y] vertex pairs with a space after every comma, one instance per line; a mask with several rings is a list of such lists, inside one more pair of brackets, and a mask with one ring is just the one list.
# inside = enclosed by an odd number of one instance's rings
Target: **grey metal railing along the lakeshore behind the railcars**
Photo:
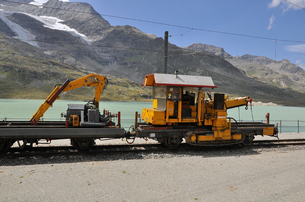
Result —
[[[30, 120], [30, 118], [7, 118], [7, 117], [0, 118], [0, 120], [1, 119], [4, 120], [4, 121], [8, 121], [8, 120]], [[60, 119], [60, 118], [42, 118], [41, 117], [41, 121], [44, 121], [44, 120], [58, 120], [58, 121], [61, 121], [63, 119]], [[117, 120], [117, 119], [113, 119], [113, 120]], [[121, 119], [121, 121], [124, 121], [124, 120], [132, 121], [134, 119]], [[253, 120], [251, 120], [251, 121], [239, 120], [239, 121], [240, 122], [253, 122]], [[139, 122], [141, 122], [141, 119], [139, 120]], [[254, 122], [266, 123], [266, 121], [264, 121], [264, 120], [254, 120]], [[296, 125], [291, 126], [289, 124], [283, 124], [283, 122], [296, 122]], [[276, 124], [277, 127], [279, 128], [279, 133], [282, 133], [282, 128], [296, 128], [297, 133], [300, 133], [300, 128], [305, 128], [305, 124], [304, 124], [304, 126], [300, 125], [300, 123], [305, 123], [305, 121], [300, 121], [300, 120], [270, 120], [269, 123]], [[129, 128], [129, 127], [124, 127], [124, 128]], [[295, 132], [292, 132], [292, 133], [295, 133]]]

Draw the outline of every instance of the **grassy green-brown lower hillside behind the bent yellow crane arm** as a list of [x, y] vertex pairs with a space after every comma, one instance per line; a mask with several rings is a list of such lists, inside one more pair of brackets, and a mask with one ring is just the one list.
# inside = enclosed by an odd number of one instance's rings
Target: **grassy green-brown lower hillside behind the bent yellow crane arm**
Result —
[[[75, 58], [75, 66], [53, 60], [38, 48], [19, 40], [3, 40], [0, 32], [0, 99], [45, 99], [54, 89], [54, 85], [63, 84], [90, 74]], [[72, 59], [71, 59], [72, 58]], [[108, 86], [101, 96], [108, 100], [151, 99], [151, 90], [143, 89], [138, 83], [127, 79], [105, 75]], [[81, 87], [67, 92], [64, 99], [92, 100], [94, 87]]]

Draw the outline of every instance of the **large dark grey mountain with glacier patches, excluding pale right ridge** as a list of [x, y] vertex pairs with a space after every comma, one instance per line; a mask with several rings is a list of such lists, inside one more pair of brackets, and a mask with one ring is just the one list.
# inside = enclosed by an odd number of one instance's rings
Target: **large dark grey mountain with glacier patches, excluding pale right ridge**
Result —
[[[10, 87], [14, 89], [14, 86], [20, 86], [13, 82], [17, 77], [20, 81], [27, 81], [22, 85], [30, 84], [35, 79], [39, 80], [35, 80], [37, 86], [48, 85], [48, 82], [53, 84], [64, 77], [76, 78], [85, 71], [142, 83], [145, 75], [162, 72], [162, 38], [128, 25], [111, 26], [87, 3], [49, 0], [41, 6], [33, 6], [30, 5], [32, 0], [15, 1], [20, 4], [3, 2], [0, 5], [1, 85], [11, 81]], [[168, 51], [169, 55], [179, 55], [181, 48], [169, 44]], [[183, 52], [194, 52], [195, 55], [170, 57], [167, 67], [169, 74], [178, 70], [179, 74], [211, 76], [218, 86], [215, 89], [218, 92], [248, 95], [262, 101], [299, 102], [305, 105], [305, 94], [250, 78], [230, 62], [216, 57], [216, 53], [186, 49]], [[11, 68], [7, 71], [11, 66], [17, 70]], [[24, 72], [42, 73], [37, 76], [36, 73]], [[16, 92], [10, 88], [5, 90], [4, 95]], [[38, 94], [30, 85], [28, 91]], [[116, 93], [123, 93], [119, 91]], [[126, 96], [130, 93], [125, 92]]]

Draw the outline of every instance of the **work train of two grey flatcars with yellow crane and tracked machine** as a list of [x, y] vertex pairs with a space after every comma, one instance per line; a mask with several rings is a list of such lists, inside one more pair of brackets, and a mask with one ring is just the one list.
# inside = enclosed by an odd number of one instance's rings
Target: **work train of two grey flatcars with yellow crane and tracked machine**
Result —
[[[70, 139], [79, 151], [87, 151], [96, 139], [144, 138], [154, 139], [168, 148], [176, 148], [181, 141], [190, 145], [250, 144], [256, 135], [277, 137], [274, 124], [237, 122], [227, 117], [234, 107], [251, 104], [248, 96], [229, 99], [217, 88], [211, 77], [151, 74], [143, 85], [152, 87], [152, 108], [135, 113], [135, 124], [126, 131], [112, 119], [114, 114], [99, 111], [99, 98], [107, 86], [107, 78], [90, 74], [72, 82], [56, 86], [29, 121], [0, 121], [0, 153], [5, 153], [17, 141], [20, 149], [30, 144], [46, 144], [56, 139]], [[95, 97], [85, 105], [69, 104], [65, 121], [41, 121], [45, 111], [65, 92], [81, 86], [96, 86]], [[62, 95], [59, 95], [63, 92]], [[117, 115], [117, 114], [116, 114]], [[116, 116], [115, 115], [115, 116]], [[138, 122], [138, 117], [144, 123]], [[23, 141], [21, 144], [20, 141]]]

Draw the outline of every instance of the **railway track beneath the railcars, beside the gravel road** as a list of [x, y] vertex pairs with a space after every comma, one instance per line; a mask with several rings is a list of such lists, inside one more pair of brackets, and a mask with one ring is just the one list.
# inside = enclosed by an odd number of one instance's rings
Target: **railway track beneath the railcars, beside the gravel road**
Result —
[[0, 158], [19, 158], [43, 156], [77, 156], [77, 155], [102, 155], [102, 154], [124, 154], [124, 153], [151, 153], [151, 152], [181, 152], [181, 151], [205, 151], [224, 148], [264, 148], [278, 146], [305, 145], [305, 139], [281, 139], [281, 140], [257, 140], [251, 145], [229, 145], [229, 146], [193, 146], [181, 143], [178, 148], [166, 148], [162, 144], [132, 144], [132, 145], [95, 145], [88, 152], [79, 152], [72, 146], [48, 146], [48, 147], [26, 147], [10, 148], [8, 153], [1, 154]]

